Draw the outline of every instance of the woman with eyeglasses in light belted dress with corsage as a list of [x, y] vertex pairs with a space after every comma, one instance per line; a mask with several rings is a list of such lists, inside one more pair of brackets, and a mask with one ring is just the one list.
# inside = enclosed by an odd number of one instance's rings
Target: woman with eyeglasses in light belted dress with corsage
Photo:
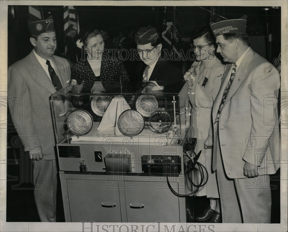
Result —
[[[192, 32], [191, 41], [193, 41], [191, 47], [196, 60], [184, 75], [184, 80], [187, 80], [189, 84], [188, 94], [192, 105], [190, 136], [197, 138], [195, 152], [198, 154], [202, 150], [198, 162], [203, 164], [208, 171], [207, 183], [200, 187], [194, 196], [207, 196], [210, 199], [209, 206], [204, 212], [196, 215], [196, 220], [218, 223], [221, 220], [221, 214], [216, 173], [212, 172], [213, 122], [211, 118], [213, 102], [220, 89], [224, 73], [224, 64], [214, 55], [217, 45], [210, 28], [196, 28]], [[197, 165], [192, 173], [193, 182], [199, 185], [200, 175]], [[203, 183], [206, 179], [204, 171]], [[188, 185], [188, 192], [196, 189], [190, 185], [189, 181]]]

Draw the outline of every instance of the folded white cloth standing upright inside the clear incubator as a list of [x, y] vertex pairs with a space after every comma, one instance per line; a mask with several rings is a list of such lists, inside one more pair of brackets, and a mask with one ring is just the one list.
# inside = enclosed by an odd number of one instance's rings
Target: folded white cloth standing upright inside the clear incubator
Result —
[[104, 130], [115, 126], [115, 134], [122, 135], [117, 126], [118, 118], [122, 112], [130, 109], [130, 106], [123, 96], [114, 97], [105, 111], [97, 130]]

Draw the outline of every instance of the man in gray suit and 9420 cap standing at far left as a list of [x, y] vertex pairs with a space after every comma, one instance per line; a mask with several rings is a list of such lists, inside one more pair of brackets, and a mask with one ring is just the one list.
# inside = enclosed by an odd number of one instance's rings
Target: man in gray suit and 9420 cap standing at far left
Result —
[[70, 83], [71, 70], [66, 59], [53, 55], [56, 33], [51, 16], [29, 21], [28, 28], [34, 49], [8, 68], [8, 94], [23, 99], [23, 114], [13, 110], [13, 123], [33, 160], [37, 185], [34, 196], [40, 220], [56, 222], [56, 144], [50, 96]]

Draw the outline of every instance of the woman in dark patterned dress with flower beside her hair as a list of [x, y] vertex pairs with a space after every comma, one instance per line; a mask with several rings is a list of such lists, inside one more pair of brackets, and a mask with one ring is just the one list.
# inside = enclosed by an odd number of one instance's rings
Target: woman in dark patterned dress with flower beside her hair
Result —
[[[82, 93], [97, 92], [123, 92], [130, 91], [128, 73], [118, 58], [113, 58], [104, 50], [104, 41], [107, 39], [102, 30], [90, 29], [81, 41], [77, 41], [77, 47], [82, 47], [82, 59], [73, 66], [71, 72], [72, 82], [83, 83]], [[102, 82], [96, 84], [96, 82]], [[94, 85], [94, 83], [96, 85]]]

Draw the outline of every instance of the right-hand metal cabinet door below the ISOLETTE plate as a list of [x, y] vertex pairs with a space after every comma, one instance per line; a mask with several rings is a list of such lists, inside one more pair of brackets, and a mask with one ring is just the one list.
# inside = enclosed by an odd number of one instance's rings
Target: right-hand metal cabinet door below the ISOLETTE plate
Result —
[[[130, 185], [125, 188], [128, 222], [180, 222], [179, 200], [167, 183], [127, 181], [126, 184]], [[171, 186], [178, 188], [177, 183]]]

